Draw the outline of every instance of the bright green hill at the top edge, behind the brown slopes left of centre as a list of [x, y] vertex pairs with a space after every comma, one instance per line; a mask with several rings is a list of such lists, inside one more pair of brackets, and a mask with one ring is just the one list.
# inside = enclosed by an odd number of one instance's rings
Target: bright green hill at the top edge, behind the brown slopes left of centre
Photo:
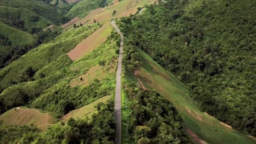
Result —
[[89, 14], [91, 10], [105, 7], [109, 4], [109, 0], [81, 0], [65, 15], [68, 18], [83, 18]]

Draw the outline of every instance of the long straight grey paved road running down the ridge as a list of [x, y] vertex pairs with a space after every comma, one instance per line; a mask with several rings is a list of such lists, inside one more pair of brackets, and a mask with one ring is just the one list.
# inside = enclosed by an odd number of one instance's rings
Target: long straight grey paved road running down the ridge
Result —
[[111, 24], [116, 29], [118, 34], [120, 34], [121, 36], [120, 52], [118, 57], [118, 68], [116, 71], [116, 95], [115, 95], [115, 112], [114, 112], [114, 117], [117, 123], [115, 144], [121, 144], [121, 72], [122, 72], [122, 53], [123, 53], [124, 37], [120, 29], [118, 28], [118, 26], [115, 24], [115, 21], [112, 21]]

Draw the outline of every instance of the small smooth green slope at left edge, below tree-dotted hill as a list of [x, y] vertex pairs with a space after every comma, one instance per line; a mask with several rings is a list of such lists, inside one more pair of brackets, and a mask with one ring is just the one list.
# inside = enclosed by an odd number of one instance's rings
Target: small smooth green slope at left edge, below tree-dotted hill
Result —
[[12, 45], [16, 46], [32, 45], [36, 40], [32, 34], [12, 28], [2, 22], [0, 22], [0, 34], [8, 37]]

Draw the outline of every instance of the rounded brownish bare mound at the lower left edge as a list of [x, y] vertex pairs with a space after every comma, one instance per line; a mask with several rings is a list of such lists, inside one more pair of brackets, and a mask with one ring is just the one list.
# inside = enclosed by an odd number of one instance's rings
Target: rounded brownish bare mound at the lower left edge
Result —
[[58, 122], [57, 114], [27, 107], [12, 108], [1, 114], [0, 120], [3, 125], [35, 125], [41, 130]]

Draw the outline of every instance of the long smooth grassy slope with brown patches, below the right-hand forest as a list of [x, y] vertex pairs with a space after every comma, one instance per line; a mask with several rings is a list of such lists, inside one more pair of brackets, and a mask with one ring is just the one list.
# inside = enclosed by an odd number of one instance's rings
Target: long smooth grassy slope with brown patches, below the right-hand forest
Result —
[[[147, 88], [156, 89], [177, 107], [185, 119], [185, 124], [209, 144], [255, 144], [256, 141], [221, 125], [218, 120], [200, 111], [196, 102], [188, 96], [188, 91], [179, 80], [138, 49], [142, 65], [138, 77]], [[135, 79], [128, 74], [127, 79]]]

